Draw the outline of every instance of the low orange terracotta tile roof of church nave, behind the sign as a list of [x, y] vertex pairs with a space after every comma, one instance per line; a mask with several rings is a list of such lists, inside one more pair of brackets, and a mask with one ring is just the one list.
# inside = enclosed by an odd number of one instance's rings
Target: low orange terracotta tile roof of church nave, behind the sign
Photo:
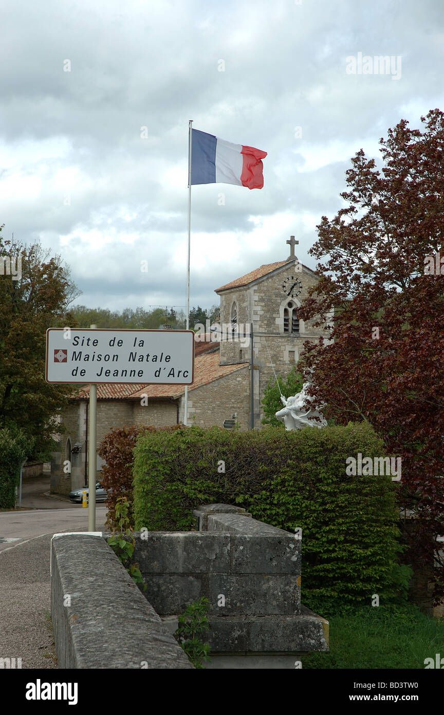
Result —
[[[199, 345], [199, 343], [198, 343]], [[223, 378], [225, 375], [231, 375], [236, 370], [245, 368], [248, 363], [238, 363], [237, 365], [219, 365], [219, 343], [200, 343], [206, 345], [207, 351], [196, 355], [194, 359], [194, 382], [189, 385], [188, 392], [196, 390], [202, 385], [208, 385], [213, 380]], [[139, 400], [142, 395], [147, 395], [148, 398], [166, 398], [176, 400], [185, 392], [185, 385], [146, 385], [145, 383], [115, 384], [115, 385], [97, 385], [98, 400]], [[74, 395], [73, 400], [88, 400], [89, 385], [81, 388], [77, 395]]]

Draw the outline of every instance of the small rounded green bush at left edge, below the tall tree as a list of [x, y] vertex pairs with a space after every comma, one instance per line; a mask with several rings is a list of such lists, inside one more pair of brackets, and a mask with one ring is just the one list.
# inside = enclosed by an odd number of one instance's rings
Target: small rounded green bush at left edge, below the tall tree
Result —
[[20, 430], [0, 429], [0, 508], [14, 508], [20, 467], [32, 444]]

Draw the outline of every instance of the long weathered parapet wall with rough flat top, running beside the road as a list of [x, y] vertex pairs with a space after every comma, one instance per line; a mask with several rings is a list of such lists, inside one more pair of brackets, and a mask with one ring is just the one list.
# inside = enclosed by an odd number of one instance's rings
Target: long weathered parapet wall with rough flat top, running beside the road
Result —
[[100, 536], [51, 541], [51, 617], [59, 668], [193, 669]]

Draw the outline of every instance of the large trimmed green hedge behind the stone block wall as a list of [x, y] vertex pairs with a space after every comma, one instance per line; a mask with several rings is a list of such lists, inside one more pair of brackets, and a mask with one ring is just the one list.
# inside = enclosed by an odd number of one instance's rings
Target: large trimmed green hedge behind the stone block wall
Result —
[[368, 423], [143, 435], [134, 448], [136, 528], [189, 530], [198, 504], [237, 503], [278, 528], [302, 528], [310, 605], [396, 596], [408, 573], [397, 563], [395, 486], [390, 476], [345, 475], [346, 458], [358, 452], [385, 455]]

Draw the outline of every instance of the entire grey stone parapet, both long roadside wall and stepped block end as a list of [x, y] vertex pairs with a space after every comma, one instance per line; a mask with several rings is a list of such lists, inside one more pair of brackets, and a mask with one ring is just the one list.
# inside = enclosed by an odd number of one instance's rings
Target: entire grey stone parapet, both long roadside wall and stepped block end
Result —
[[195, 514], [200, 531], [134, 533], [146, 597], [106, 535], [54, 536], [59, 668], [192, 668], [171, 631], [201, 596], [212, 668], [293, 668], [293, 656], [328, 651], [328, 621], [301, 606], [301, 541], [236, 506]]

